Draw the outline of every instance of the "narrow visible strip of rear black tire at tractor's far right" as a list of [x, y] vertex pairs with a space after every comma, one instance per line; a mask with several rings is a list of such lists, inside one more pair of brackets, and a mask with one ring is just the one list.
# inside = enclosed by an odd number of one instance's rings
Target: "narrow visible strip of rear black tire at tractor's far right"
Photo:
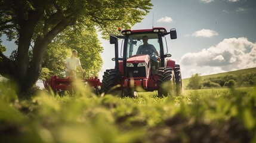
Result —
[[181, 80], [181, 71], [180, 71], [179, 64], [175, 64], [174, 75], [175, 75], [175, 84], [176, 84], [176, 95], [181, 95], [182, 94], [182, 80]]

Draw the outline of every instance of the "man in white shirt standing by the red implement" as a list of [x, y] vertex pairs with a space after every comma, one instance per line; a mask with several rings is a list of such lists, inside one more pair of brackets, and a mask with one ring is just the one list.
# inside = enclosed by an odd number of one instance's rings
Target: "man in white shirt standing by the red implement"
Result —
[[66, 68], [66, 77], [69, 76], [75, 76], [76, 67], [78, 66], [78, 69], [84, 73], [81, 63], [78, 57], [78, 51], [73, 50], [71, 57], [68, 57], [67, 60], [64, 63], [64, 67]]

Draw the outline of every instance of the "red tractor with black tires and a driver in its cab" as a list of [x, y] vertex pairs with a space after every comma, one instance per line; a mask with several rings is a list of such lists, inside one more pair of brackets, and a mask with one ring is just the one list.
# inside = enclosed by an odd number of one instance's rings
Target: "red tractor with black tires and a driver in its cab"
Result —
[[[170, 58], [165, 37], [170, 34], [171, 39], [177, 39], [176, 30], [167, 32], [164, 27], [154, 27], [121, 33], [110, 35], [110, 43], [115, 44], [115, 69], [104, 72], [101, 92], [108, 94], [116, 89], [122, 91], [121, 97], [134, 97], [134, 91], [140, 86], [145, 91], [158, 91], [159, 97], [179, 95], [180, 65]], [[122, 39], [121, 49], [118, 39]]]

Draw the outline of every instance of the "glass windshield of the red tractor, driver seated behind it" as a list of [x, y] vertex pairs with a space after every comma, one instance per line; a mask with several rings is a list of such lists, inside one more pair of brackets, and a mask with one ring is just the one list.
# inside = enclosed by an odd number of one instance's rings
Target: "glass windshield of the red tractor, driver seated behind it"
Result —
[[[145, 43], [144, 43], [145, 42]], [[129, 35], [127, 42], [127, 58], [136, 54], [159, 55], [160, 46], [157, 33], [140, 33]]]

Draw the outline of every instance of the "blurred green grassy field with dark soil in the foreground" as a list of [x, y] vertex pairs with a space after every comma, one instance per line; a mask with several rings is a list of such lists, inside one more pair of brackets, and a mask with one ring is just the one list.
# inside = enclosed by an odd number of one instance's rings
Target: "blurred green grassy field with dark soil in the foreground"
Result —
[[179, 97], [70, 97], [39, 92], [17, 100], [1, 88], [4, 142], [255, 142], [256, 88], [185, 90]]

